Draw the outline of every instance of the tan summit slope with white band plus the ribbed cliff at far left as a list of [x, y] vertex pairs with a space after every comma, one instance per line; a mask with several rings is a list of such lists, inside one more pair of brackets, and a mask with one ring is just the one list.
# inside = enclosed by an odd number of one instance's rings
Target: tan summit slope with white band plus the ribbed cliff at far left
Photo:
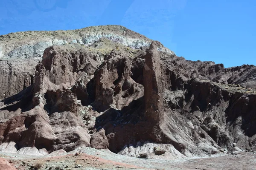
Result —
[[[34, 83], [35, 66], [52, 45], [96, 44], [102, 39], [133, 49], [147, 49], [151, 40], [122, 26], [87, 27], [76, 31], [26, 31], [0, 36], [0, 99]], [[159, 51], [174, 54], [162, 44]]]

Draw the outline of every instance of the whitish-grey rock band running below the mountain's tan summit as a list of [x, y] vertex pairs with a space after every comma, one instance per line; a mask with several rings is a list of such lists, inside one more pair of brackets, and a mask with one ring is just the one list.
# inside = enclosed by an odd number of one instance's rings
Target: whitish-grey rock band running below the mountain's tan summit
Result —
[[[41, 59], [44, 54], [45, 48], [52, 45], [64, 45], [64, 44], [81, 44], [91, 45], [94, 42], [99, 41], [101, 38], [106, 38], [116, 43], [126, 45], [133, 49], [148, 48], [151, 41], [145, 41], [143, 39], [134, 39], [125, 37], [119, 34], [104, 33], [104, 32], [93, 32], [90, 34], [81, 35], [81, 37], [73, 40], [62, 40], [55, 37], [49, 37], [47, 40], [31, 40], [24, 44], [6, 44], [5, 48], [1, 47], [0, 44], [0, 59], [26, 59], [35, 57], [35, 59]], [[159, 51], [167, 52], [175, 55], [175, 53], [164, 46], [158, 48]]]

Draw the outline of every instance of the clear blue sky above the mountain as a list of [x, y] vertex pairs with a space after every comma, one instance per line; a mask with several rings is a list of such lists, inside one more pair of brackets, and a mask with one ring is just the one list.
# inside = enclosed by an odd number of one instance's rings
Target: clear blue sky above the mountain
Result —
[[256, 0], [0, 0], [0, 34], [108, 24], [186, 59], [256, 65]]

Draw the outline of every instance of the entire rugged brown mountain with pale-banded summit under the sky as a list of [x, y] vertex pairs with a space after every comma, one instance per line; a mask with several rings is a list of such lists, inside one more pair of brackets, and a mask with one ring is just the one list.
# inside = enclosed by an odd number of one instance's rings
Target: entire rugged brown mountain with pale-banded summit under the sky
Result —
[[256, 150], [256, 67], [177, 57], [122, 26], [0, 36], [0, 151]]

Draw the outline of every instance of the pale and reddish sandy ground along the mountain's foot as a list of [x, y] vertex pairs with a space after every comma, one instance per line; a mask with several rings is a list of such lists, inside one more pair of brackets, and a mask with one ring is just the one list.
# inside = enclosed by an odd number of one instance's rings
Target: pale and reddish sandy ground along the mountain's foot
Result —
[[194, 159], [167, 159], [164, 155], [139, 159], [92, 148], [82, 152], [54, 157], [0, 153], [0, 157], [17, 170], [256, 170], [256, 154], [246, 152]]

